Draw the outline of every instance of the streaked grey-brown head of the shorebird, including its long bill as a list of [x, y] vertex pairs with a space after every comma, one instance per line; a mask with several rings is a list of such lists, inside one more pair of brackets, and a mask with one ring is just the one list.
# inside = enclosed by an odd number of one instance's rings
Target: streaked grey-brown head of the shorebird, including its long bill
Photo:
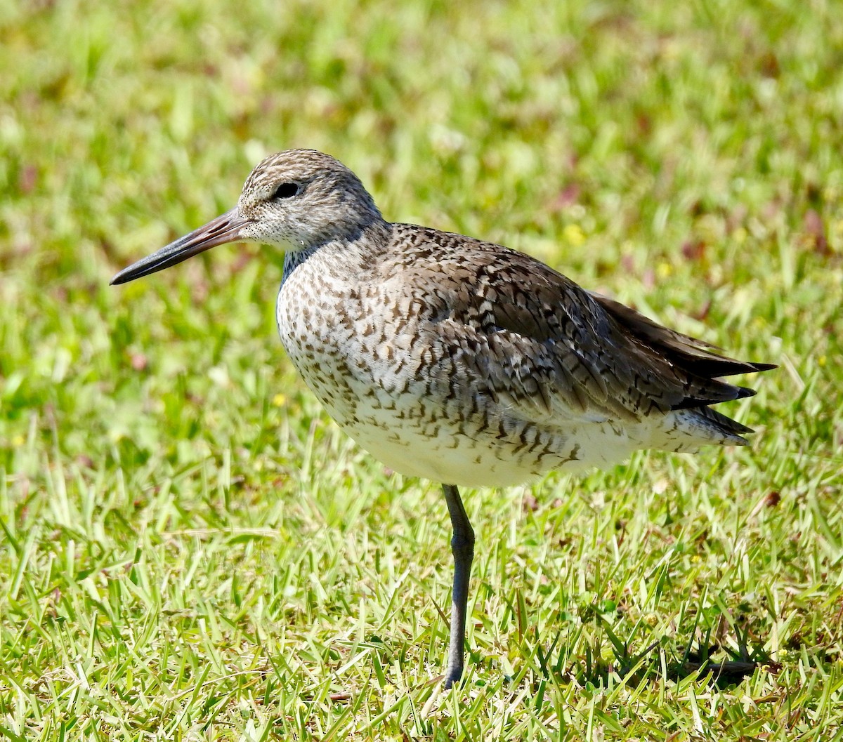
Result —
[[120, 271], [112, 284], [164, 270], [207, 249], [234, 242], [298, 252], [353, 240], [383, 218], [357, 175], [330, 155], [292, 149], [252, 170], [237, 206]]

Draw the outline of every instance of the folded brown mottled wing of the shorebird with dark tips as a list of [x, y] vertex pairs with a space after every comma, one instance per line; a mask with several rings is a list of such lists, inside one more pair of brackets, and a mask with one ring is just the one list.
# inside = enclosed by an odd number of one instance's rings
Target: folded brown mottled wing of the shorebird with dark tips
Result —
[[427, 330], [477, 392], [524, 419], [642, 419], [705, 407], [754, 393], [717, 376], [771, 367], [717, 355], [527, 255], [414, 229], [417, 249], [404, 249], [400, 275], [407, 287], [435, 274]]

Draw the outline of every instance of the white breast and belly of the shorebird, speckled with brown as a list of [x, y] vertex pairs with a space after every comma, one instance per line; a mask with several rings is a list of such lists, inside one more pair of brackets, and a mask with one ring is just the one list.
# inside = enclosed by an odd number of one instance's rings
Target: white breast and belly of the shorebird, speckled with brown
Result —
[[288, 272], [278, 330], [328, 414], [379, 461], [469, 486], [588, 465], [577, 460], [576, 436], [507, 418], [389, 286], [352, 284], [332, 269], [314, 255]]

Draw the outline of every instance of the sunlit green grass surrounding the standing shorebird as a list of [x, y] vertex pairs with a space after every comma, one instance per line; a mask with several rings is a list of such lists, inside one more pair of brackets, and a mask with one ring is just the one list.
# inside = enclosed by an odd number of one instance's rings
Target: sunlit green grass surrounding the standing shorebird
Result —
[[[843, 739], [835, 3], [0, 3], [0, 737]], [[359, 451], [282, 256], [115, 270], [335, 154], [742, 358], [752, 446], [467, 493]]]

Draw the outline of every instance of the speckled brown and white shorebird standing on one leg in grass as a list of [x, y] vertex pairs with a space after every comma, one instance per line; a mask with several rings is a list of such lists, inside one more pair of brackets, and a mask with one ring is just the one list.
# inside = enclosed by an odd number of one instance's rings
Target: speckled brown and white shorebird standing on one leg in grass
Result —
[[234, 209], [111, 283], [233, 242], [285, 251], [278, 332], [328, 414], [386, 466], [443, 485], [446, 687], [463, 673], [475, 546], [459, 486], [744, 445], [751, 430], [709, 405], [754, 391], [720, 377], [775, 368], [717, 355], [515, 250], [386, 222], [357, 176], [314, 150], [266, 157]]

